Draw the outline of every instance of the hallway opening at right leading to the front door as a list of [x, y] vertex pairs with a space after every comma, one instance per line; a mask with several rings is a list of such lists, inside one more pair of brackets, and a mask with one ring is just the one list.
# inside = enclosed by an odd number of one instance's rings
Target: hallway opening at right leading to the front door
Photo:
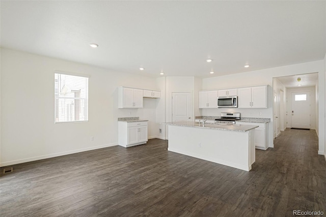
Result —
[[318, 73], [274, 77], [273, 97], [274, 139], [286, 128], [318, 130]]

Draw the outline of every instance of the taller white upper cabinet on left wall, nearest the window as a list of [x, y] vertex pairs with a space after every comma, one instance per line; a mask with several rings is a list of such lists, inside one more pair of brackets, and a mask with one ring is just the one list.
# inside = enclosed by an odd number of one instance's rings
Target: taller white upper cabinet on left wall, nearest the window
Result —
[[118, 108], [142, 108], [143, 90], [119, 87], [118, 88]]

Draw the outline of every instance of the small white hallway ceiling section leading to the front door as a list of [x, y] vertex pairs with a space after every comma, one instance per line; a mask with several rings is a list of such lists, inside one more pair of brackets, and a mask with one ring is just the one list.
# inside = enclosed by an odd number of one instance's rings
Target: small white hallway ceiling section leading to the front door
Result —
[[[300, 78], [300, 81], [298, 81], [298, 78]], [[277, 79], [286, 88], [311, 87], [311, 86], [316, 86], [318, 80], [318, 73], [283, 76], [283, 77], [277, 77]], [[297, 85], [301, 85], [301, 86], [297, 86]]]

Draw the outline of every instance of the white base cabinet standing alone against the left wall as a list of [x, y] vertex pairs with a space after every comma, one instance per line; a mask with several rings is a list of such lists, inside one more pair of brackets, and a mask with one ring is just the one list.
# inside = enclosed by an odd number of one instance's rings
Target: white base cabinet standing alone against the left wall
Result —
[[123, 147], [130, 147], [145, 144], [147, 141], [147, 121], [118, 122], [118, 145]]

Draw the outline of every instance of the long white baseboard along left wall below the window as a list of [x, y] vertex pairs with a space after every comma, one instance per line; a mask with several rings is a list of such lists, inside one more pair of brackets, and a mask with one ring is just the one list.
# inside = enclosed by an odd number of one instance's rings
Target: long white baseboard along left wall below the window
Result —
[[67, 154], [75, 154], [75, 153], [79, 153], [79, 152], [91, 151], [91, 150], [95, 150], [95, 149], [106, 148], [106, 147], [117, 146], [117, 145], [118, 145], [118, 143], [111, 143], [111, 144], [93, 146], [93, 147], [89, 147], [89, 148], [81, 148], [81, 149], [76, 149], [76, 150], [71, 150], [71, 151], [59, 152], [59, 153], [55, 153], [55, 154], [47, 154], [47, 155], [42, 155], [42, 156], [37, 156], [37, 157], [29, 157], [29, 158], [24, 158], [24, 159], [11, 160], [11, 161], [0, 163], [0, 167], [6, 167], [6, 166], [21, 164], [24, 162], [30, 162], [30, 161], [34, 161], [34, 160], [42, 160], [42, 159], [46, 159], [46, 158], [58, 157], [58, 156], [63, 156], [63, 155], [67, 155]]

